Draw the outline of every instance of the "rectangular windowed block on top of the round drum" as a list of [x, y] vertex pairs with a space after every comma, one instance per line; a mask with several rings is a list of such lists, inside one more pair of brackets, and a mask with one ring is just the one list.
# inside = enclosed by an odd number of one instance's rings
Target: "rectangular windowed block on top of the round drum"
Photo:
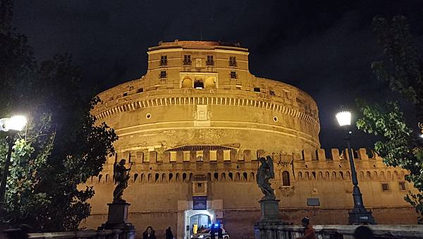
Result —
[[175, 87], [214, 89], [249, 77], [248, 49], [240, 44], [176, 40], [149, 47], [147, 54], [148, 72], [159, 78], [157, 85], [179, 79]]

